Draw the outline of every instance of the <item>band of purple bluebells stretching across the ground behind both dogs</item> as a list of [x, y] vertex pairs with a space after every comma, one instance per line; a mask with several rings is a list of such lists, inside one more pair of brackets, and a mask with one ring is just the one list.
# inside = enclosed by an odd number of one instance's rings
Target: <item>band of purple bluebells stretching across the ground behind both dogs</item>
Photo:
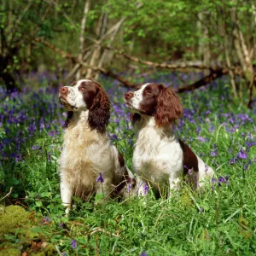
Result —
[[[179, 73], [178, 75], [177, 73], [154, 73], [150, 76], [148, 76], [148, 73], [134, 74], [137, 84], [157, 82], [166, 84], [173, 89], [183, 86], [179, 78], [186, 81], [195, 81], [200, 79], [201, 76], [203, 76], [203, 73]], [[22, 92], [8, 93], [3, 87], [0, 87], [2, 105], [2, 108], [0, 108], [0, 157], [3, 161], [5, 160], [4, 164], [8, 165], [9, 162], [22, 163], [28, 156], [27, 148], [38, 154], [43, 154], [43, 145], [38, 141], [45, 137], [49, 138], [49, 142], [59, 138], [66, 113], [58, 102], [57, 90], [48, 86], [52, 80], [56, 82], [53, 74], [43, 73], [38, 75], [30, 73], [27, 84], [22, 85]], [[104, 83], [100, 81], [102, 85], [111, 84], [109, 88], [108, 86], [105, 87], [113, 108], [108, 131], [114, 142], [122, 143], [121, 150], [130, 150], [129, 153], [131, 153], [135, 132], [130, 122], [129, 111], [121, 100], [128, 89], [119, 86], [118, 81], [113, 81], [107, 77], [104, 77], [103, 80]], [[45, 88], [31, 90], [32, 84], [44, 84]], [[232, 100], [230, 91], [224, 88], [220, 101], [218, 98], [212, 98], [212, 101], [209, 101], [207, 89], [210, 86], [212, 90], [218, 90], [218, 83], [214, 81], [208, 84], [207, 87], [196, 90], [191, 95], [193, 101], [189, 102], [189, 108], [185, 107], [185, 103], [183, 104], [183, 116], [177, 124], [177, 132], [181, 134], [185, 143], [193, 143], [192, 148], [200, 144], [202, 144], [202, 147], [200, 145], [198, 148], [212, 148], [204, 152], [198, 152], [204, 149], [193, 149], [202, 157], [210, 157], [211, 164], [218, 166], [218, 156], [223, 154], [222, 148], [217, 144], [211, 144], [209, 147], [207, 145], [212, 142], [212, 137], [215, 136], [214, 132], [219, 129], [219, 125], [222, 125], [222, 129], [224, 129], [228, 135], [228, 140], [232, 144], [230, 148], [233, 148], [229, 149], [228, 152], [231, 155], [230, 165], [236, 165], [240, 161], [244, 169], [247, 170], [248, 166], [255, 162], [255, 157], [250, 159], [249, 155], [251, 155], [251, 148], [256, 145], [256, 130], [254, 128], [254, 130], [249, 129], [248, 131], [246, 128], [253, 128], [253, 114], [255, 115], [256, 111], [254, 110], [252, 114], [245, 112], [226, 113], [224, 110], [225, 101]], [[201, 90], [205, 90], [205, 92], [202, 93]], [[183, 101], [183, 98], [181, 100]], [[208, 134], [205, 132], [206, 128]], [[235, 134], [238, 134], [241, 140], [233, 139]], [[233, 145], [236, 147], [233, 147]], [[51, 160], [53, 151], [54, 148], [51, 148], [51, 146], [47, 148], [48, 160]], [[4, 169], [4, 166], [0, 167]], [[103, 181], [103, 177], [99, 177], [98, 182], [102, 183]]]

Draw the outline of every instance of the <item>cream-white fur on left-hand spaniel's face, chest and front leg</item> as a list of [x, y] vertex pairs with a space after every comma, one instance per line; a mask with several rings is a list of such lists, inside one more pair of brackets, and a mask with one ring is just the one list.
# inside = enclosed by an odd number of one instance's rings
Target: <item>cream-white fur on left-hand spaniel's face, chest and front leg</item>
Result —
[[[119, 152], [111, 143], [107, 132], [91, 131], [88, 125], [89, 110], [86, 109], [79, 92], [80, 80], [74, 87], [68, 87], [67, 102], [73, 112], [67, 129], [60, 158], [61, 200], [69, 212], [73, 195], [88, 199], [95, 192], [103, 194], [104, 200], [113, 195], [115, 187], [124, 181], [125, 171], [133, 175], [126, 166], [119, 165]], [[68, 105], [65, 106], [68, 108]], [[127, 169], [126, 169], [127, 168]], [[96, 182], [100, 172], [104, 182]]]

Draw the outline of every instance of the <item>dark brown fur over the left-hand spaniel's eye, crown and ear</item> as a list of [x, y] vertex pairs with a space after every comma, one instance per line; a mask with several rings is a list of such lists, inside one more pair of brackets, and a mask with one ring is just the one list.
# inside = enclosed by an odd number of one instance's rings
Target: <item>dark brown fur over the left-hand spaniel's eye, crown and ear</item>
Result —
[[110, 118], [110, 102], [106, 92], [100, 84], [86, 81], [79, 85], [84, 102], [89, 109], [88, 123], [91, 130], [104, 133]]

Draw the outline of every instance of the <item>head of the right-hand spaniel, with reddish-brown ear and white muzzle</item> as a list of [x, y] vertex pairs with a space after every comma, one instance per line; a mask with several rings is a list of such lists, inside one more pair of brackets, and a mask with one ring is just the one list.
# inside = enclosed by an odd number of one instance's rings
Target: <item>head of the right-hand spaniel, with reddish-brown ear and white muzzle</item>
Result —
[[154, 116], [159, 127], [171, 125], [183, 112], [177, 94], [163, 84], [143, 84], [138, 90], [125, 93], [125, 103], [137, 113]]

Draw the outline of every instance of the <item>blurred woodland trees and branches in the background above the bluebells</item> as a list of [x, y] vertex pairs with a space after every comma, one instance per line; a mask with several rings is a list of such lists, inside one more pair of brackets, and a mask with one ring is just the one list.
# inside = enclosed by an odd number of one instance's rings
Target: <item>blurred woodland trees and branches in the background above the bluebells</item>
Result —
[[229, 75], [234, 96], [246, 89], [252, 102], [253, 0], [2, 0], [0, 15], [0, 76], [9, 90], [31, 71], [60, 81], [104, 73], [132, 86], [120, 72], [154, 67], [204, 71], [180, 92]]

